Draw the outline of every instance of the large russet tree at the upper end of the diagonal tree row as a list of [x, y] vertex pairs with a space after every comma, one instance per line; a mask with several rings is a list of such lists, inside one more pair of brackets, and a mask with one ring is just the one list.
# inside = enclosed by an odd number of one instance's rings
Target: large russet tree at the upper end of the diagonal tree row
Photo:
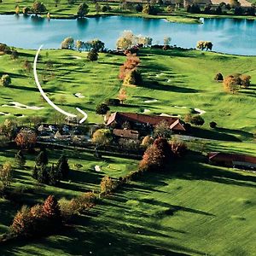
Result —
[[165, 138], [157, 138], [143, 154], [139, 168], [141, 171], [158, 171], [166, 169], [173, 157], [170, 144]]

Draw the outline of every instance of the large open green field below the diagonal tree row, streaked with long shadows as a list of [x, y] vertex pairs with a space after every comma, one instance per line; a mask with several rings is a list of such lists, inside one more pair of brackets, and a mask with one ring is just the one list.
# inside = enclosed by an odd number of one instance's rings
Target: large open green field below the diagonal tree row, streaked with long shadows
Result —
[[[146, 173], [59, 236], [3, 246], [4, 255], [255, 255], [255, 182], [189, 154]], [[99, 246], [101, 245], [101, 246]]]

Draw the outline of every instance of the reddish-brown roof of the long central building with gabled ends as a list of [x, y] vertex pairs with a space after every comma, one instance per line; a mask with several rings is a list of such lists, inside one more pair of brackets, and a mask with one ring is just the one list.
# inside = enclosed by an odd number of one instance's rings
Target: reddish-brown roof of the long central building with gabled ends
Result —
[[158, 125], [162, 121], [166, 121], [166, 123], [170, 125], [170, 129], [186, 131], [181, 120], [176, 117], [149, 115], [143, 113], [115, 112], [110, 115], [107, 125], [111, 125], [113, 121], [117, 122], [118, 124], [123, 124], [125, 121], [130, 121], [153, 126]]

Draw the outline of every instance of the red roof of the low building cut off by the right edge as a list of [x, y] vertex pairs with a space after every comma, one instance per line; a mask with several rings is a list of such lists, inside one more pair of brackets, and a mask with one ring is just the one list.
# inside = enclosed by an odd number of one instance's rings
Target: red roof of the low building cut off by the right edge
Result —
[[209, 160], [217, 161], [231, 161], [231, 162], [247, 162], [256, 164], [256, 157], [247, 154], [229, 154], [222, 152], [210, 152], [208, 153]]

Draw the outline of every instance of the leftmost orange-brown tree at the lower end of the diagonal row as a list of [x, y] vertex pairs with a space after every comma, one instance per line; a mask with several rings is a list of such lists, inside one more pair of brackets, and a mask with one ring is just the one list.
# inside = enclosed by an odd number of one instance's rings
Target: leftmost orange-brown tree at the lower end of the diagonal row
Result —
[[29, 207], [23, 206], [16, 213], [10, 230], [16, 236], [32, 236], [32, 213]]

